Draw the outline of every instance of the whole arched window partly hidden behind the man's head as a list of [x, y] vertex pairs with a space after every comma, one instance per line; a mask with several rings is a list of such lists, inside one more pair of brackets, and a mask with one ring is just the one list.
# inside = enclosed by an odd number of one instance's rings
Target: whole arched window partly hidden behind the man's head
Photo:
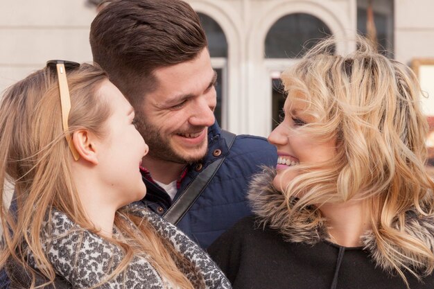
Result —
[[211, 64], [217, 73], [217, 106], [214, 110], [217, 122], [225, 127], [224, 120], [225, 112], [223, 111], [223, 103], [227, 97], [227, 41], [225, 33], [218, 23], [203, 13], [198, 13], [200, 21], [205, 30], [208, 40], [209, 54], [211, 55]]

